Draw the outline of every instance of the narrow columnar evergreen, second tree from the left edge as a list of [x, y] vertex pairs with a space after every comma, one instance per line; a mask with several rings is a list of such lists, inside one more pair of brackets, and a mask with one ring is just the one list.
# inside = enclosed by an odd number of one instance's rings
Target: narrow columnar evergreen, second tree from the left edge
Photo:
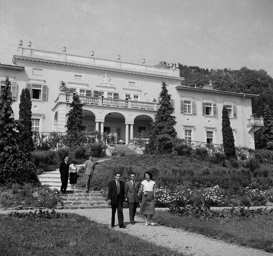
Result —
[[31, 97], [27, 88], [22, 89], [19, 104], [19, 148], [29, 155], [34, 150], [32, 139], [32, 122], [31, 122]]

